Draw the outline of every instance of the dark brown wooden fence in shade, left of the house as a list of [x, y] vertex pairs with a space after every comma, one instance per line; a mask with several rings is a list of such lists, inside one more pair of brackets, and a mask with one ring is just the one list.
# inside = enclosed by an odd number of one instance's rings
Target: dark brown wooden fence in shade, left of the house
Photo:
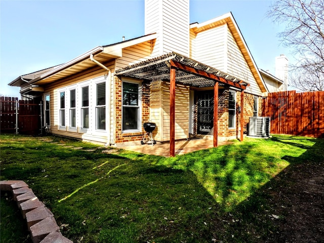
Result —
[[16, 97], [0, 97], [1, 133], [36, 135], [41, 126], [39, 104], [18, 100]]

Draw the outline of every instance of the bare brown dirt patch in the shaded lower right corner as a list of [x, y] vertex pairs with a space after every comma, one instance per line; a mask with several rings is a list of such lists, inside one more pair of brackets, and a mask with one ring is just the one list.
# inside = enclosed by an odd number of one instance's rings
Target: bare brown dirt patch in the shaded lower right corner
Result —
[[324, 162], [291, 166], [269, 188], [279, 219], [269, 242], [324, 242]]

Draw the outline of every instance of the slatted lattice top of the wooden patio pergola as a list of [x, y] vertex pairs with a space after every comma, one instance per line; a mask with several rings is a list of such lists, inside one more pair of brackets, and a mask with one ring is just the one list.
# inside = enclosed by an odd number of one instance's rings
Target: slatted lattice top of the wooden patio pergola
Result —
[[249, 86], [234, 76], [175, 52], [118, 69], [115, 74], [152, 81], [170, 80], [170, 66], [177, 67], [176, 82], [183, 85], [213, 87], [218, 81], [220, 85], [230, 85], [242, 90]]

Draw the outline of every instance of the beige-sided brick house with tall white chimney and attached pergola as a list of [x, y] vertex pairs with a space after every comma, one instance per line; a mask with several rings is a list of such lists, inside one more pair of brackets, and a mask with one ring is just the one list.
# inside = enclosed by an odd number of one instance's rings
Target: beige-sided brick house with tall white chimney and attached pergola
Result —
[[159, 142], [239, 138], [268, 92], [232, 14], [189, 24], [189, 0], [146, 0], [144, 36], [26, 75], [9, 85], [44, 101], [52, 134], [114, 146], [147, 121]]

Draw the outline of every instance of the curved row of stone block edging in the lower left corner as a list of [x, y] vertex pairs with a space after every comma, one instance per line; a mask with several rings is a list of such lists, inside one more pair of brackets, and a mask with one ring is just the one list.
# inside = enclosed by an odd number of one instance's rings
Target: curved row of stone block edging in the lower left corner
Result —
[[73, 243], [60, 232], [54, 215], [39, 201], [24, 181], [0, 181], [1, 191], [10, 191], [24, 219], [33, 243]]

